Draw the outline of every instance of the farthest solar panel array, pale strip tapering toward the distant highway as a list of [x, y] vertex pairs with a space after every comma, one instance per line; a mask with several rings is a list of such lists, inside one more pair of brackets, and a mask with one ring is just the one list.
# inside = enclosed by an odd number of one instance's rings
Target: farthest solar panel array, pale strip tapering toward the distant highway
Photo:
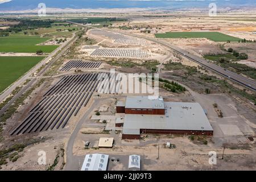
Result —
[[117, 32], [110, 32], [106, 30], [91, 30], [90, 31], [94, 35], [102, 35], [106, 36], [112, 40], [114, 43], [118, 44], [127, 44], [127, 45], [146, 45], [146, 41], [143, 39], [138, 39], [133, 36], [119, 34]]

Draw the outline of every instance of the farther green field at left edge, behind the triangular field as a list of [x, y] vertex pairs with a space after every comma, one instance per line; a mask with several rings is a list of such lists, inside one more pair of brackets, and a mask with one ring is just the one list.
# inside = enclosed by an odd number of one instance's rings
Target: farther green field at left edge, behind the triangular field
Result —
[[49, 38], [40, 38], [30, 35], [11, 35], [0, 38], [0, 52], [26, 52], [34, 53], [38, 49], [43, 52], [52, 52], [58, 46], [36, 46], [36, 44], [46, 42]]

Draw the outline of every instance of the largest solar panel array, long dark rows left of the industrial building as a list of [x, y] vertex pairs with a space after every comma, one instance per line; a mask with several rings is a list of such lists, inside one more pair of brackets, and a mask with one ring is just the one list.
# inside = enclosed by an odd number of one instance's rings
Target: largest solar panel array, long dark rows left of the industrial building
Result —
[[81, 107], [88, 104], [100, 82], [97, 78], [104, 74], [88, 73], [62, 77], [10, 134], [18, 135], [64, 128], [72, 115], [76, 116]]

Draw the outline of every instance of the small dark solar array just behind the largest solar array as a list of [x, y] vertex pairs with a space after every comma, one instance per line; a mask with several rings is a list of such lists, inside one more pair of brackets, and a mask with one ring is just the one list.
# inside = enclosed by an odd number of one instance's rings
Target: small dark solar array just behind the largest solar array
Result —
[[72, 68], [98, 68], [100, 67], [101, 62], [93, 62], [93, 61], [83, 61], [83, 60], [71, 60], [68, 61], [67, 64], [64, 65], [60, 71], [69, 71]]

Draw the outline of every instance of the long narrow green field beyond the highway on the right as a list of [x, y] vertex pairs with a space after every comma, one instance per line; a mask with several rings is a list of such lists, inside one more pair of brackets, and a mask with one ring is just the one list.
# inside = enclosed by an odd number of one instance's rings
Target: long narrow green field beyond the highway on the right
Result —
[[215, 42], [238, 42], [239, 38], [222, 34], [220, 32], [166, 32], [155, 34], [156, 38], [207, 38]]

